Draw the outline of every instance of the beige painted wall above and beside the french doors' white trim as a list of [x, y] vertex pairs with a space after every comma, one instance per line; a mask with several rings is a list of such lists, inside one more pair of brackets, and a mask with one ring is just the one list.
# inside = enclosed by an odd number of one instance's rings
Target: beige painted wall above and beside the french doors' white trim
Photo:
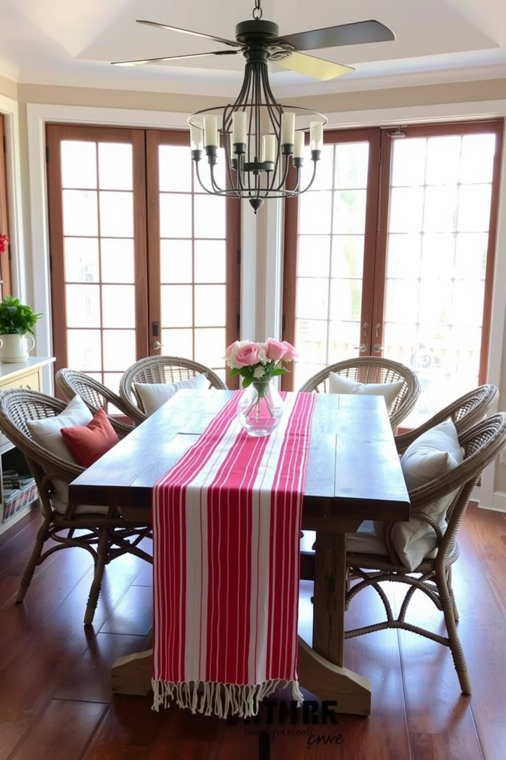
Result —
[[[28, 224], [28, 166], [27, 156], [27, 103], [47, 103], [64, 106], [96, 106], [118, 109], [136, 109], [167, 112], [194, 112], [222, 103], [222, 98], [169, 95], [127, 90], [105, 90], [85, 87], [58, 87], [51, 85], [15, 84], [0, 77], [0, 93], [17, 100], [20, 119], [20, 153], [22, 158], [22, 195], [24, 199], [25, 240], [30, 240]], [[451, 84], [395, 87], [336, 93], [319, 97], [292, 99], [292, 103], [318, 109], [324, 113], [353, 112], [409, 106], [430, 106], [445, 103], [479, 103], [487, 100], [506, 100], [506, 79], [458, 82]], [[503, 201], [504, 202], [504, 201]], [[506, 252], [498, 251], [498, 256]], [[27, 251], [30, 260], [30, 252]], [[504, 319], [504, 316], [503, 316]], [[504, 330], [506, 335], [506, 330]], [[501, 388], [499, 408], [506, 410], [506, 351], [501, 350]], [[495, 470], [495, 490], [506, 494], [506, 467]]]

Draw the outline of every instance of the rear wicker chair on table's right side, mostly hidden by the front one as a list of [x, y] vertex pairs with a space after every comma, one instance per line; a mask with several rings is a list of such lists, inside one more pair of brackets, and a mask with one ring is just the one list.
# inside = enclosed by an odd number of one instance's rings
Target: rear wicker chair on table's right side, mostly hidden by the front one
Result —
[[499, 391], [495, 388], [495, 385], [486, 384], [473, 388], [472, 391], [468, 391], [432, 415], [422, 425], [400, 435], [395, 435], [395, 445], [399, 454], [403, 454], [410, 443], [413, 443], [423, 432], [445, 420], [453, 420], [457, 432], [463, 432], [467, 428], [479, 423], [489, 412], [498, 395]]

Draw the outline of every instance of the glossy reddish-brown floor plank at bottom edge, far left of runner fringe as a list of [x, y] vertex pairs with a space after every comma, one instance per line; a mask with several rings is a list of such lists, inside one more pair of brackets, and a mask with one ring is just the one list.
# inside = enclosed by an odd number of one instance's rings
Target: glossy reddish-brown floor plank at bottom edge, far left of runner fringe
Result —
[[52, 699], [8, 760], [80, 760], [105, 705]]

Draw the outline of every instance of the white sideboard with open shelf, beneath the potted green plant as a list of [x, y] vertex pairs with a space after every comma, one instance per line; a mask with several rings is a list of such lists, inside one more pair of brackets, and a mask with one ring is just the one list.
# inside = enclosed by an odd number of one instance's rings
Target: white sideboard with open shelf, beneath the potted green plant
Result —
[[[55, 361], [54, 356], [30, 356], [20, 364], [0, 363], [0, 391], [8, 388], [45, 390], [42, 368]], [[27, 463], [17, 448], [0, 431], [0, 534], [27, 515], [37, 498]]]

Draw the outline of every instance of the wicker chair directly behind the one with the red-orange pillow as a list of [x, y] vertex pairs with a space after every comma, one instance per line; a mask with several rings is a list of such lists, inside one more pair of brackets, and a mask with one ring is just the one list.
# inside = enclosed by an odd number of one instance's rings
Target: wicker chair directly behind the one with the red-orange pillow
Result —
[[95, 414], [100, 408], [105, 410], [109, 416], [109, 421], [120, 437], [134, 428], [133, 425], [121, 422], [109, 414], [109, 404], [111, 404], [125, 416], [129, 416], [118, 394], [90, 375], [86, 375], [85, 372], [78, 372], [77, 369], [68, 369], [68, 367], [58, 369], [55, 375], [55, 383], [68, 401], [79, 395], [91, 413]]

